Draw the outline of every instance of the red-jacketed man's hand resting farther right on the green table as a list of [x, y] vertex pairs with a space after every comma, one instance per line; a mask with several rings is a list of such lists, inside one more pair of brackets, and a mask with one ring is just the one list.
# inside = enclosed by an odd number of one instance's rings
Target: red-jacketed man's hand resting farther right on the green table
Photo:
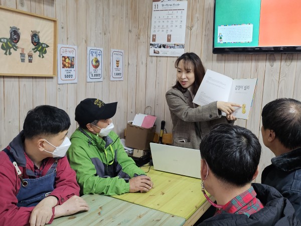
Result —
[[54, 211], [54, 218], [67, 216], [79, 211], [88, 211], [88, 203], [81, 197], [73, 195], [61, 205], [57, 205]]

